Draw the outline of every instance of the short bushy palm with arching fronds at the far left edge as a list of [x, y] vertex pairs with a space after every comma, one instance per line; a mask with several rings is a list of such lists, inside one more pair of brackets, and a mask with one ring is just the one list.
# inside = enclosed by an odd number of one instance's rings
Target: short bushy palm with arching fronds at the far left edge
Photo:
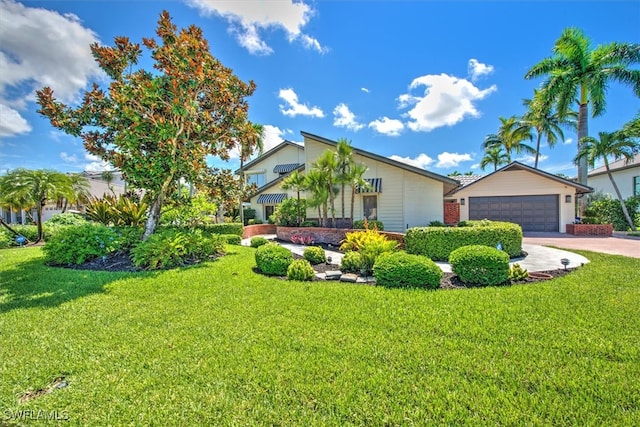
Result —
[[36, 209], [38, 239], [42, 240], [42, 208], [47, 200], [55, 200], [72, 192], [69, 176], [52, 170], [16, 169], [0, 177], [0, 197], [5, 204], [21, 209]]

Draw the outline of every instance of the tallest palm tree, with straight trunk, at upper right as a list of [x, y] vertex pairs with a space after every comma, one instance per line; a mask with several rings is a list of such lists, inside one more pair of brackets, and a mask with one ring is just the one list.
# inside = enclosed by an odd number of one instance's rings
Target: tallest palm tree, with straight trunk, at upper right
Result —
[[[546, 76], [542, 84], [545, 96], [560, 114], [565, 116], [574, 102], [578, 112], [578, 151], [589, 135], [589, 103], [592, 117], [605, 112], [608, 84], [617, 81], [632, 87], [640, 96], [640, 70], [631, 69], [640, 63], [640, 44], [610, 43], [591, 46], [591, 41], [578, 28], [566, 28], [553, 47], [553, 56], [534, 65], [525, 79]], [[580, 157], [578, 182], [587, 184], [587, 158]]]

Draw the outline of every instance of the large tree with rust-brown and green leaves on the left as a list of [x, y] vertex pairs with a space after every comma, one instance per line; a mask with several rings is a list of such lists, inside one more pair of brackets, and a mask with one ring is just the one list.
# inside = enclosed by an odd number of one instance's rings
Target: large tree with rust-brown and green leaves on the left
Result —
[[56, 101], [49, 87], [37, 91], [39, 112], [54, 127], [81, 137], [87, 151], [146, 190], [150, 208], [143, 239], [155, 231], [162, 205], [180, 179], [199, 184], [207, 156], [226, 160], [241, 141], [257, 139], [245, 100], [255, 84], [243, 82], [211, 55], [200, 28], [178, 31], [167, 11], [156, 34], [159, 41], [142, 40], [153, 72], [136, 69], [140, 44], [116, 37], [113, 46], [91, 46], [112, 79], [108, 90], [94, 83], [77, 108]]

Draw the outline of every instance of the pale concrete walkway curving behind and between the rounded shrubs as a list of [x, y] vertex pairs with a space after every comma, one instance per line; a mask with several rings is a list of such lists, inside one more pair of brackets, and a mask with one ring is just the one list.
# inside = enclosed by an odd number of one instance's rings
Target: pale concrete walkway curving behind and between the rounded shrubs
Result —
[[[276, 238], [276, 235], [264, 235], [262, 236], [266, 239], [273, 240]], [[242, 241], [242, 245], [249, 246], [251, 239], [244, 239]], [[640, 242], [639, 242], [640, 243]], [[289, 249], [291, 252], [302, 255], [306, 246], [304, 245], [296, 245], [294, 243], [281, 242], [283, 247]], [[546, 246], [540, 246], [537, 244], [522, 244], [522, 249], [527, 253], [526, 257], [517, 258], [511, 260], [510, 264], [518, 263], [520, 267], [524, 268], [527, 271], [548, 271], [548, 270], [557, 270], [558, 268], [563, 268], [561, 259], [568, 259], [569, 264], [568, 268], [580, 267], [589, 262], [589, 260], [582, 255], [578, 255], [573, 252], [565, 251], [562, 249], [548, 248]], [[340, 265], [342, 263], [342, 256], [338, 251], [325, 250], [327, 257], [331, 257], [331, 262], [333, 264]], [[445, 273], [451, 272], [451, 266], [446, 262], [436, 262], [440, 269]]]

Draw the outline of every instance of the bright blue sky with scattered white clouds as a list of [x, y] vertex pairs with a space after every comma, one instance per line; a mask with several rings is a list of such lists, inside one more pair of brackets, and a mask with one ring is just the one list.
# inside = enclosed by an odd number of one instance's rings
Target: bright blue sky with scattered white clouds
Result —
[[[306, 131], [443, 175], [483, 173], [484, 137], [500, 116], [524, 112], [541, 80], [523, 76], [564, 28], [581, 28], [594, 46], [640, 42], [637, 0], [0, 0], [0, 173], [105, 168], [36, 113], [34, 92], [49, 85], [77, 101], [89, 83], [106, 82], [89, 44], [155, 36], [163, 9], [178, 27], [201, 27], [212, 54], [256, 82], [250, 118], [265, 126], [267, 148]], [[631, 89], [614, 83], [590, 134], [639, 110]], [[540, 167], [573, 176], [576, 135], [565, 137], [543, 147]]]

